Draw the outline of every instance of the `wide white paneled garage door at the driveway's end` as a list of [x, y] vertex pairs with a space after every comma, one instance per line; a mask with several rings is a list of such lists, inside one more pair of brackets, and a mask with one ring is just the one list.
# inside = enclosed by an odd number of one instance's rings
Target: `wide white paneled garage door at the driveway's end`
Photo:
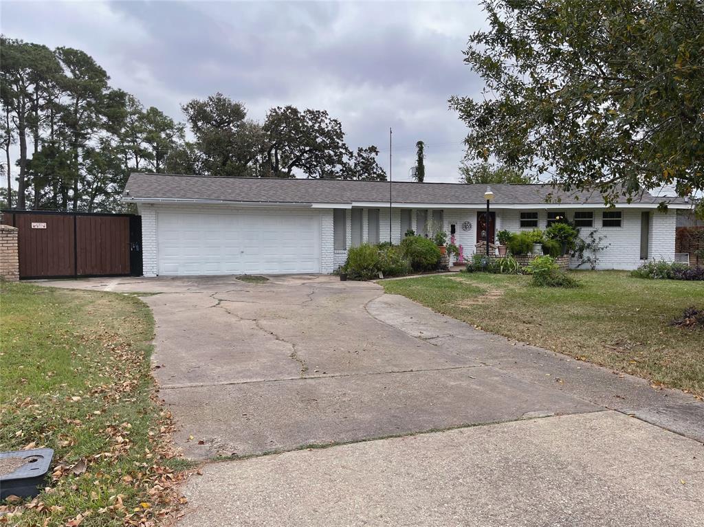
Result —
[[320, 216], [310, 212], [158, 212], [158, 274], [320, 272]]

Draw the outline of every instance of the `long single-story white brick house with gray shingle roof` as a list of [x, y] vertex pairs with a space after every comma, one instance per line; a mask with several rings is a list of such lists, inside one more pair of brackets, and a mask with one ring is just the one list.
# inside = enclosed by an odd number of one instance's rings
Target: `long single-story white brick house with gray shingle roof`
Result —
[[[547, 185], [491, 185], [489, 241], [496, 231], [544, 229], [567, 217], [608, 244], [601, 269], [634, 269], [642, 260], [674, 260], [676, 213], [691, 208], [645, 193], [606, 208], [598, 193]], [[465, 258], [484, 240], [486, 185], [251, 179], [131, 174], [122, 195], [142, 215], [144, 275], [329, 273], [350, 247], [391, 240], [430, 224], [455, 233]], [[551, 203], [546, 202], [548, 194]], [[391, 224], [389, 225], [389, 217]], [[573, 262], [574, 264], [574, 262]]]

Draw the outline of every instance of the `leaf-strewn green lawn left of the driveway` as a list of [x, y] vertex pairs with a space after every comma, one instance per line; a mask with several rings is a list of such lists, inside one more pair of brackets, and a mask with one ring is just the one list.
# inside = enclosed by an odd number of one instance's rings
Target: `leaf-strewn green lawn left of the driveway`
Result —
[[118, 293], [1, 284], [0, 317], [0, 450], [56, 450], [50, 490], [0, 505], [9, 523], [119, 526], [170, 512], [179, 460], [154, 396], [149, 308]]

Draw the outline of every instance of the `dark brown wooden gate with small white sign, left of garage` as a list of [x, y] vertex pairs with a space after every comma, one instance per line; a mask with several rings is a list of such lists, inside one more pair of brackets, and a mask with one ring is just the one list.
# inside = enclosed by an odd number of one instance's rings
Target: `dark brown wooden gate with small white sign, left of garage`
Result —
[[19, 229], [20, 278], [142, 274], [139, 216], [4, 210], [2, 222]]

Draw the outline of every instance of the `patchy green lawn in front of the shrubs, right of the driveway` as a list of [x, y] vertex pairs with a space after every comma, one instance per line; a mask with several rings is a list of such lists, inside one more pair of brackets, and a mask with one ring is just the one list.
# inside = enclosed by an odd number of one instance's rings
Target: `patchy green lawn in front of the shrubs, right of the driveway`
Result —
[[704, 330], [669, 325], [686, 307], [704, 308], [702, 282], [574, 276], [583, 287], [537, 288], [529, 277], [486, 273], [381, 284], [486, 331], [704, 396]]

